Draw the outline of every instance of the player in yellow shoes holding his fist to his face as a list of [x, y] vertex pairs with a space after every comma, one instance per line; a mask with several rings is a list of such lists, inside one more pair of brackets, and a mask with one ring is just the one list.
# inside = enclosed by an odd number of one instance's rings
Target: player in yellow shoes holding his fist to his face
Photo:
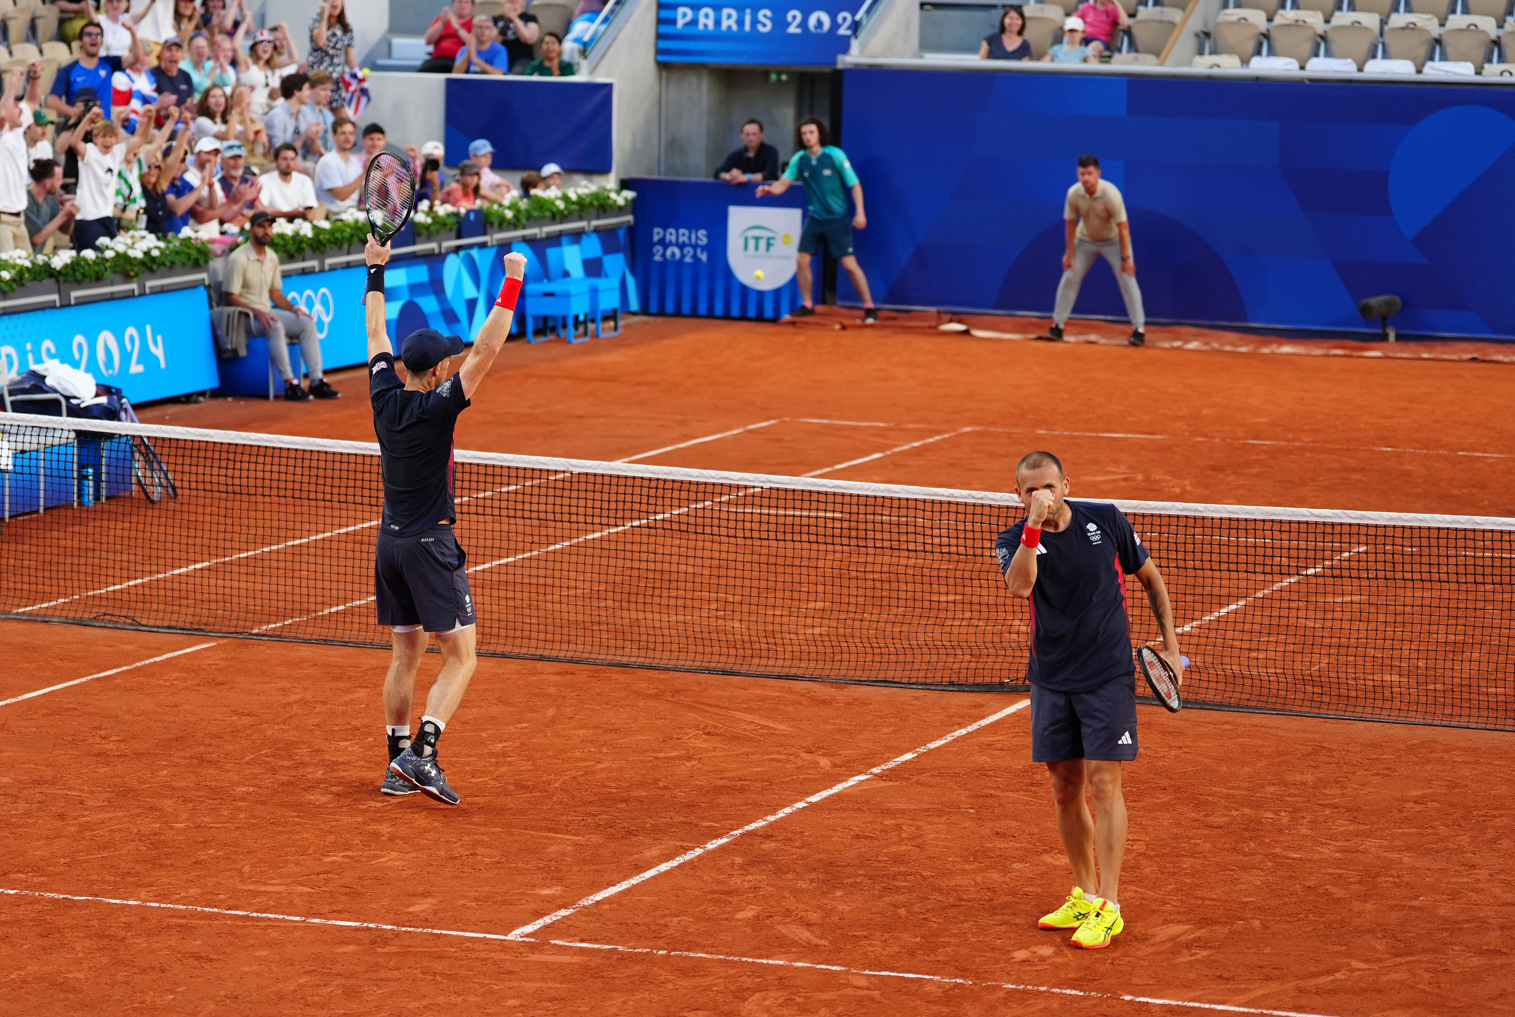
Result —
[[[1020, 461], [1015, 493], [1026, 518], [1000, 534], [994, 555], [1011, 593], [1030, 600], [1032, 761], [1045, 762], [1051, 776], [1057, 832], [1076, 881], [1064, 905], [1038, 925], [1077, 929], [1073, 946], [1097, 950], [1126, 926], [1118, 897], [1126, 853], [1121, 762], [1136, 758], [1126, 576], [1135, 573], [1147, 591], [1160, 655], [1180, 682], [1183, 659], [1168, 587], [1118, 508], [1070, 502], [1068, 477], [1050, 452]], [[1094, 797], [1092, 818], [1085, 787]]]

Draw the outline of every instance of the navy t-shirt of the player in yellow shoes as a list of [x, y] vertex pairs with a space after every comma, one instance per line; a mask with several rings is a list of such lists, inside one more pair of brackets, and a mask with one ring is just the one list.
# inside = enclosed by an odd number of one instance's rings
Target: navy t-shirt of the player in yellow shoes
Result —
[[[1126, 576], [1147, 562], [1147, 549], [1118, 508], [1068, 502], [1073, 521], [1042, 530], [1032, 587], [1032, 659], [1027, 681], [1057, 693], [1086, 693], [1130, 677]], [[994, 555], [1009, 571], [1026, 520], [1000, 534]]]

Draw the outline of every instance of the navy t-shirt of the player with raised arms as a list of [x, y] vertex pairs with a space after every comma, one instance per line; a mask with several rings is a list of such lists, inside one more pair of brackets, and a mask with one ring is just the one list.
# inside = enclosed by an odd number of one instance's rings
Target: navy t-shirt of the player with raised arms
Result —
[[368, 394], [383, 461], [383, 523], [391, 537], [415, 537], [445, 518], [453, 505], [453, 427], [468, 408], [453, 374], [429, 393], [411, 391], [394, 370], [394, 353], [368, 361]]

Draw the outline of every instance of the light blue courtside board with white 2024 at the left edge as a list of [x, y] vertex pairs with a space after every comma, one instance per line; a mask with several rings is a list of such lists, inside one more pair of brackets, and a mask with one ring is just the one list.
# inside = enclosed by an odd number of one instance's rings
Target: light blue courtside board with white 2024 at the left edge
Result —
[[0, 365], [6, 371], [15, 374], [50, 359], [89, 371], [133, 403], [203, 393], [218, 383], [211, 305], [200, 286], [0, 317]]

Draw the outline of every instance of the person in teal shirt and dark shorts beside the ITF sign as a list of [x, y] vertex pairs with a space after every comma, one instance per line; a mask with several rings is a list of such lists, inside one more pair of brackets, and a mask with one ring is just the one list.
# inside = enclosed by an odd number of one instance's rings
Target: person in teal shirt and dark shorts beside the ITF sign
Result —
[[[758, 197], [764, 194], [783, 194], [795, 180], [804, 183], [804, 197], [811, 203], [809, 215], [804, 220], [804, 230], [800, 233], [800, 300], [804, 303], [789, 312], [791, 318], [801, 318], [815, 314], [814, 276], [811, 259], [820, 255], [823, 247], [830, 249], [832, 258], [841, 261], [847, 276], [853, 280], [857, 296], [862, 297], [862, 320], [877, 321], [879, 311], [873, 306], [873, 294], [868, 291], [868, 277], [857, 265], [853, 253], [853, 229], [867, 229], [868, 217], [862, 211], [862, 183], [853, 173], [847, 153], [826, 144], [826, 123], [818, 117], [806, 117], [800, 121], [800, 152], [789, 159], [789, 167], [774, 183], [764, 183], [758, 188]], [[851, 189], [853, 205], [857, 214], [851, 224], [847, 223], [847, 191]]]

